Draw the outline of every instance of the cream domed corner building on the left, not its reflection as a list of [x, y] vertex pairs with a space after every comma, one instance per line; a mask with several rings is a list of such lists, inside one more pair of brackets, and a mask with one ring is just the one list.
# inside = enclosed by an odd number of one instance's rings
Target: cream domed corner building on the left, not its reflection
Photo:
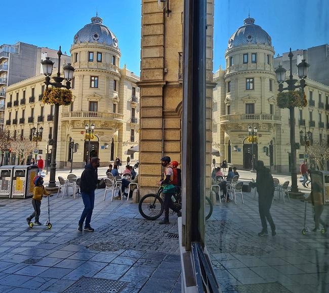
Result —
[[[85, 124], [91, 123], [95, 124], [91, 154], [99, 156], [102, 165], [115, 160], [116, 156], [125, 160], [124, 152], [139, 140], [138, 76], [126, 65], [119, 68], [121, 53], [117, 39], [99, 17], [93, 17], [90, 24], [75, 34], [70, 53], [75, 68], [71, 82], [73, 103], [60, 107], [59, 166], [67, 165], [71, 159], [71, 141], [78, 144], [73, 165], [80, 167], [88, 158]], [[38, 75], [8, 88], [7, 100], [13, 104], [6, 111], [6, 124], [13, 134], [28, 137], [33, 125], [36, 127], [39, 122], [44, 133], [38, 145], [45, 154], [48, 139], [52, 137], [53, 106], [41, 102], [44, 80], [44, 75]]]

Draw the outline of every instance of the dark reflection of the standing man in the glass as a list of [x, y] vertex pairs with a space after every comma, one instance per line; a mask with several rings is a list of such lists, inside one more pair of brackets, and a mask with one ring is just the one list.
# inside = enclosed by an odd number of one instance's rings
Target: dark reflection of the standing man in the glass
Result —
[[259, 236], [268, 235], [267, 222], [271, 226], [272, 236], [276, 235], [275, 225], [270, 213], [270, 208], [274, 196], [274, 184], [270, 170], [264, 166], [263, 161], [255, 163], [256, 175], [256, 188], [258, 192], [258, 210], [262, 223], [262, 231], [258, 233]]

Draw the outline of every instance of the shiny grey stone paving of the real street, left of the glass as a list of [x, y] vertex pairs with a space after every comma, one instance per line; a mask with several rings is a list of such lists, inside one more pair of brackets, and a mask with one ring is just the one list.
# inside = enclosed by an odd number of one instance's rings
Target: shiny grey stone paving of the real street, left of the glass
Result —
[[[50, 198], [50, 230], [27, 226], [30, 199], [1, 199], [0, 292], [62, 292], [81, 276], [127, 282], [124, 293], [180, 292], [178, 239], [166, 237], [178, 234], [177, 217], [158, 225], [143, 219], [137, 204], [103, 201], [103, 194], [96, 191], [93, 233], [76, 230], [81, 198]], [[41, 210], [45, 222], [45, 199]]]

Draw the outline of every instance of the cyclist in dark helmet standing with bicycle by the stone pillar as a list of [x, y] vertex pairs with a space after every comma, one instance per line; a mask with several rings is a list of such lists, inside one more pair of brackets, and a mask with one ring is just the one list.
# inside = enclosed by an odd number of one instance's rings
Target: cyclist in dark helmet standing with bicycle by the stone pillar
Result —
[[161, 180], [159, 183], [161, 185], [165, 185], [163, 188], [163, 206], [165, 208], [165, 219], [160, 221], [159, 224], [169, 224], [169, 208], [171, 208], [174, 212], [177, 213], [178, 217], [182, 216], [182, 213], [178, 210], [175, 206], [174, 202], [172, 201], [172, 196], [175, 194], [175, 186], [173, 184], [174, 180], [174, 170], [173, 166], [170, 164], [170, 157], [164, 156], [160, 159], [161, 165], [165, 168], [163, 172], [164, 180]]

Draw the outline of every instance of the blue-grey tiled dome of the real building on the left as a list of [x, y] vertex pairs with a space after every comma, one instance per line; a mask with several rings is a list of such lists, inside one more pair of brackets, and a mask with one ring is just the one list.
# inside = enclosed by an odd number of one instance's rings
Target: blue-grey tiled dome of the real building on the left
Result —
[[92, 17], [92, 22], [86, 24], [74, 35], [73, 44], [85, 43], [86, 41], [94, 43], [96, 41], [117, 48], [117, 38], [102, 22], [103, 20], [100, 17]]

